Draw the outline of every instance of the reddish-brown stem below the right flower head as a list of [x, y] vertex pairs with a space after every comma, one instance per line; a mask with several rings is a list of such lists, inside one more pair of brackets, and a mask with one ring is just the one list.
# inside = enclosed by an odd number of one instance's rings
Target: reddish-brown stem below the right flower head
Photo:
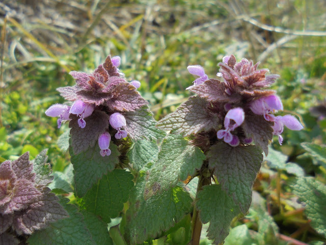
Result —
[[[204, 185], [210, 184], [210, 176], [205, 177], [202, 174], [199, 176], [198, 186], [197, 186], [197, 193], [196, 193], [196, 199], [198, 192], [203, 188]], [[193, 213], [193, 220], [192, 220], [192, 245], [199, 245], [200, 241], [200, 234], [202, 232], [202, 222], [199, 218], [199, 212], [197, 210], [197, 205], [195, 204], [194, 207], [194, 213]]]

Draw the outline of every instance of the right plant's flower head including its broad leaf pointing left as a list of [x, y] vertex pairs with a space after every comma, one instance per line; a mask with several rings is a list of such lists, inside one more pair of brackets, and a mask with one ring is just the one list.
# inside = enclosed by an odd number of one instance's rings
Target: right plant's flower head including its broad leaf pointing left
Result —
[[195, 135], [194, 144], [204, 152], [219, 140], [231, 146], [254, 141], [265, 154], [273, 135], [278, 135], [282, 144], [284, 126], [303, 129], [291, 115], [274, 115], [283, 110], [283, 105], [276, 91], [266, 88], [279, 75], [267, 75], [268, 69], [258, 69], [259, 63], [247, 59], [237, 62], [233, 55], [225, 56], [219, 65], [217, 79], [208, 78], [200, 65], [187, 67], [199, 77], [187, 88], [197, 96], [190, 97], [175, 112], [158, 121], [158, 128], [183, 136]]

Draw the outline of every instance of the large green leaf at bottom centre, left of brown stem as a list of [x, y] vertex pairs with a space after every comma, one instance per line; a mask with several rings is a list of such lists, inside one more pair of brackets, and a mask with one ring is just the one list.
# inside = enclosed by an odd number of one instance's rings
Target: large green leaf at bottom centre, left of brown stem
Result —
[[147, 197], [145, 190], [148, 170], [140, 171], [130, 193], [125, 238], [127, 244], [138, 244], [171, 228], [191, 211], [192, 198], [179, 186]]

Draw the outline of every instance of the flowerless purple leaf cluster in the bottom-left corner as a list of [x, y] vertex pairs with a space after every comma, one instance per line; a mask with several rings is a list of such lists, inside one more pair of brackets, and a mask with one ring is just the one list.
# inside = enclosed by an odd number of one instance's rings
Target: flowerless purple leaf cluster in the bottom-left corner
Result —
[[41, 178], [36, 175], [29, 153], [0, 165], [0, 241], [3, 244], [18, 244], [18, 236], [30, 235], [49, 222], [68, 216], [56, 195], [46, 187], [53, 179], [49, 174]]

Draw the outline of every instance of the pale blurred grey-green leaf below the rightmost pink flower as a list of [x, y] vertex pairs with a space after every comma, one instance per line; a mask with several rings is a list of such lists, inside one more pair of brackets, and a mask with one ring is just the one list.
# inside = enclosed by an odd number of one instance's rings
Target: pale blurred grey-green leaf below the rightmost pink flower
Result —
[[276, 168], [280, 170], [286, 170], [287, 173], [293, 174], [296, 176], [304, 176], [304, 169], [296, 163], [288, 162], [288, 157], [282, 152], [276, 151], [270, 146], [268, 147], [268, 155], [264, 157], [264, 160], [268, 161], [268, 166], [270, 168]]

